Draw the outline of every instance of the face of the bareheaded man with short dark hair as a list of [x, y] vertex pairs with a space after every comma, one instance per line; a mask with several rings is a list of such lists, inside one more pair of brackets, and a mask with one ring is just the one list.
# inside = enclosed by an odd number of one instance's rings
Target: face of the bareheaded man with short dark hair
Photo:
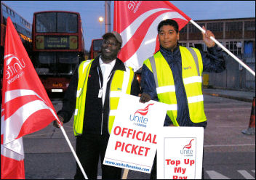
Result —
[[165, 49], [175, 49], [179, 38], [180, 34], [176, 33], [172, 25], [163, 25], [159, 30], [159, 43]]

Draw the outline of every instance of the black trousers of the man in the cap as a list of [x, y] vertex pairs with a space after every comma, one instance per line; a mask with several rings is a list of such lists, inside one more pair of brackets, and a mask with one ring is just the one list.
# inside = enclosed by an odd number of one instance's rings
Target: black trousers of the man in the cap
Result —
[[[88, 179], [97, 179], [97, 164], [101, 159], [102, 179], [121, 179], [121, 168], [103, 165], [109, 135], [83, 134], [76, 138], [76, 155], [87, 174]], [[74, 179], [84, 179], [76, 163]]]

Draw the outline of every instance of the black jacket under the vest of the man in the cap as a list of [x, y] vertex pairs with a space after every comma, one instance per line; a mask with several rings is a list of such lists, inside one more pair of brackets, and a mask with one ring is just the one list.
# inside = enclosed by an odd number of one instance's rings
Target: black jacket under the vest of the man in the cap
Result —
[[[99, 73], [97, 71], [99, 67]], [[116, 59], [116, 64], [111, 71], [111, 78], [108, 81], [107, 89], [105, 92], [105, 103], [103, 107], [103, 102], [101, 98], [98, 98], [98, 93], [100, 90], [100, 81], [103, 86], [103, 75], [100, 70], [99, 57], [96, 57], [92, 62], [91, 69], [89, 71], [89, 78], [87, 83], [87, 96], [85, 102], [85, 111], [84, 111], [84, 126], [83, 134], [108, 134], [108, 114], [109, 114], [109, 94], [110, 94], [110, 85], [113, 78], [113, 72], [115, 70], [124, 70], [125, 66], [121, 60]], [[100, 75], [100, 81], [99, 81]], [[63, 123], [67, 123], [76, 108], [76, 91], [78, 84], [78, 69], [76, 69], [71, 82], [69, 83], [68, 89], [65, 92], [63, 98], [63, 108], [60, 110], [57, 115], [60, 115], [64, 118]], [[135, 78], [132, 81], [131, 94], [138, 96], [140, 94], [140, 86]], [[103, 120], [102, 120], [103, 113]]]

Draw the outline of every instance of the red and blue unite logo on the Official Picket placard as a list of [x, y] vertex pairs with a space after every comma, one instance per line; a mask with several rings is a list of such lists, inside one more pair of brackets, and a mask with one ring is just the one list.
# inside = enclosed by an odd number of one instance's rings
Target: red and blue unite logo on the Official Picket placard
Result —
[[151, 106], [153, 104], [148, 104], [144, 109], [141, 109], [141, 110], [137, 110], [135, 112], [136, 113], [139, 113], [140, 115], [133, 115], [133, 118], [132, 118], [132, 115], [129, 115], [129, 120], [131, 121], [134, 121], [134, 125], [135, 126], [142, 126], [142, 127], [147, 127], [147, 123], [148, 123], [148, 118], [144, 118], [143, 115], [147, 115], [148, 114], [148, 107]]

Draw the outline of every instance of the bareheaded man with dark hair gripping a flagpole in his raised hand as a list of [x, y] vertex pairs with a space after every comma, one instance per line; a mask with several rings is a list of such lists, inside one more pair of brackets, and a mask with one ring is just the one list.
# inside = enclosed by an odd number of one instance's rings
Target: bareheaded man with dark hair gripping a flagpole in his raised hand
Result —
[[[143, 93], [169, 105], [165, 121], [170, 119], [172, 123], [168, 126], [206, 127], [201, 74], [225, 70], [223, 52], [209, 38], [214, 34], [210, 30], [203, 34], [207, 46], [207, 53], [204, 53], [178, 44], [180, 34], [175, 20], [161, 21], [157, 30], [160, 50], [143, 64], [140, 84]], [[156, 179], [156, 161], [151, 179]]]

